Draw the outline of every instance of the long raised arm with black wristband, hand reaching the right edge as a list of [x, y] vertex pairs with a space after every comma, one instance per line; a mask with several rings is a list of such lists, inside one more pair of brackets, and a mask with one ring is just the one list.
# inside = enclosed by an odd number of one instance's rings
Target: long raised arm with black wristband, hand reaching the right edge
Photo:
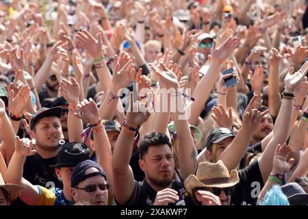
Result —
[[301, 81], [307, 80], [307, 77], [305, 77], [307, 71], [308, 62], [305, 62], [302, 68], [294, 74], [292, 74], [294, 72], [294, 68], [290, 68], [287, 76], [285, 77], [285, 90], [281, 108], [274, 125], [274, 136], [268, 143], [268, 146], [266, 146], [264, 154], [259, 159], [259, 168], [264, 182], [266, 182], [268, 175], [270, 174], [270, 170], [272, 170], [272, 162], [268, 161], [272, 160], [276, 146], [278, 144], [285, 143], [289, 136], [294, 90]]

